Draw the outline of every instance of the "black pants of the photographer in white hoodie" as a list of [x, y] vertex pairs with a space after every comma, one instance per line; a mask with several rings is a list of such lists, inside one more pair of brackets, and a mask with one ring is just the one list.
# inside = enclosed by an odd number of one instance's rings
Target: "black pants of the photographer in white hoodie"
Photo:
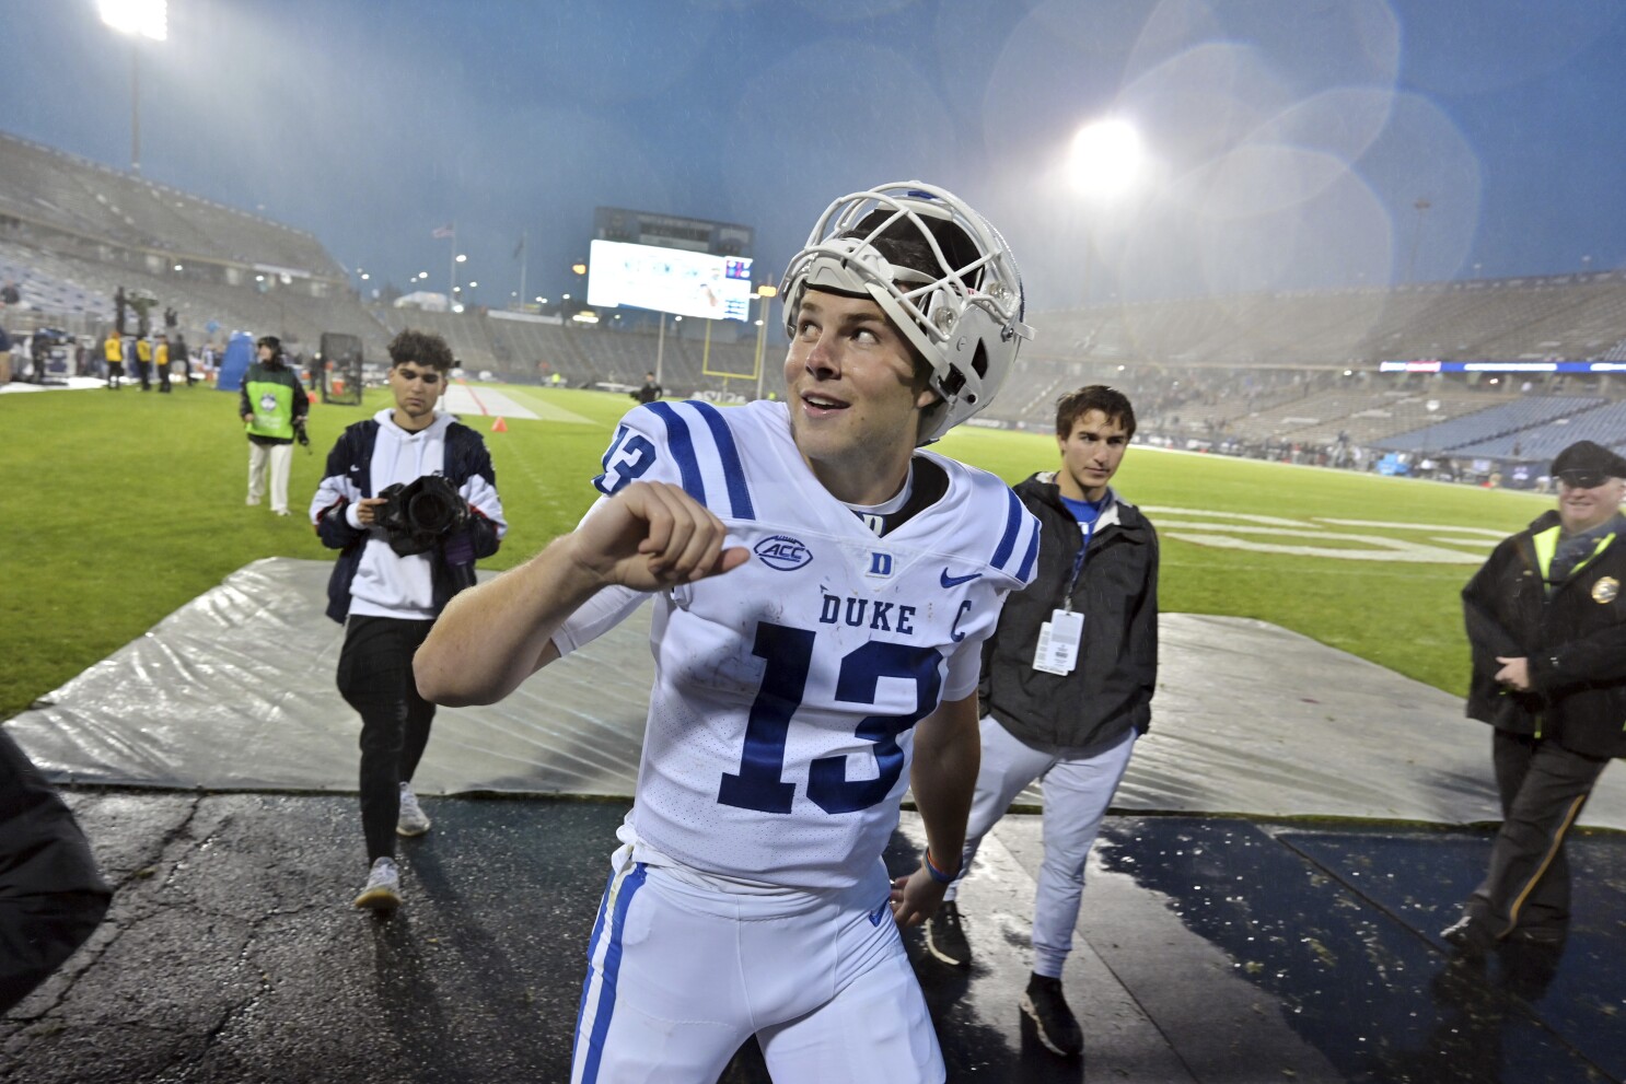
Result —
[[395, 856], [400, 785], [429, 744], [434, 704], [418, 696], [411, 657], [433, 621], [351, 616], [338, 653], [338, 691], [361, 712], [361, 830], [367, 861]]

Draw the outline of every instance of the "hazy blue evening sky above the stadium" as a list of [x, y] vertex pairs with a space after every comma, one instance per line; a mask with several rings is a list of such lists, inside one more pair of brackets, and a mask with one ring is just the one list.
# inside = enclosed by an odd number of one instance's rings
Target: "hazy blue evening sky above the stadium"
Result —
[[[0, 7], [0, 128], [130, 164], [132, 42]], [[171, 0], [141, 172], [312, 231], [369, 286], [582, 289], [598, 205], [756, 229], [777, 281], [836, 195], [982, 210], [1029, 310], [1626, 267], [1616, 0]], [[1073, 132], [1150, 161], [1081, 195]], [[1424, 200], [1426, 208], [1418, 210]]]

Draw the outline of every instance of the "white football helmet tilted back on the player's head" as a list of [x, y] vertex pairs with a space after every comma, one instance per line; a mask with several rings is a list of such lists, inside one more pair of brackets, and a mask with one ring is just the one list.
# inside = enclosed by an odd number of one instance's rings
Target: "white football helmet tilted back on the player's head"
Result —
[[[891, 263], [881, 237], [924, 244], [937, 267]], [[992, 403], [1033, 338], [1010, 245], [964, 200], [919, 180], [844, 195], [820, 216], [779, 286], [790, 338], [806, 289], [873, 297], [932, 366], [941, 401], [920, 411], [920, 444]]]

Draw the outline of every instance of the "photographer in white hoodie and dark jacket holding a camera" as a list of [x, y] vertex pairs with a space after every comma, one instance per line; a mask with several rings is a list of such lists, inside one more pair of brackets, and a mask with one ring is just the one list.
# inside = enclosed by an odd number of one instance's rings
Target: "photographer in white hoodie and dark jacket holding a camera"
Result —
[[345, 429], [311, 501], [322, 543], [341, 551], [327, 616], [345, 622], [338, 691], [361, 713], [371, 868], [354, 904], [374, 910], [400, 904], [395, 835], [429, 830], [411, 777], [434, 705], [413, 684], [413, 652], [507, 531], [485, 442], [434, 410], [452, 369], [446, 340], [402, 332], [389, 349], [395, 408]]

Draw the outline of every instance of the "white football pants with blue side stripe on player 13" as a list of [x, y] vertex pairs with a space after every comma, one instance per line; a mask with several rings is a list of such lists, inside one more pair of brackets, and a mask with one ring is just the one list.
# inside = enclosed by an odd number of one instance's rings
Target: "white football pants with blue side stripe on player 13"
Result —
[[941, 1084], [885, 866], [833, 892], [741, 895], [611, 858], [574, 1084], [715, 1084], [751, 1034], [774, 1084]]

